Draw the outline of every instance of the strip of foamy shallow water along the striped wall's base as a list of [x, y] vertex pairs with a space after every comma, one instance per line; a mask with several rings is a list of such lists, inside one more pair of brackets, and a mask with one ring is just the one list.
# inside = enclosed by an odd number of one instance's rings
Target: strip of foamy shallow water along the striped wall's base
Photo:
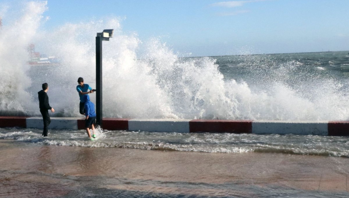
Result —
[[314, 135], [256, 135], [98, 130], [98, 140], [87, 141], [84, 130], [0, 129], [0, 139], [38, 145], [118, 147], [142, 150], [207, 153], [285, 153], [349, 157], [348, 137]]

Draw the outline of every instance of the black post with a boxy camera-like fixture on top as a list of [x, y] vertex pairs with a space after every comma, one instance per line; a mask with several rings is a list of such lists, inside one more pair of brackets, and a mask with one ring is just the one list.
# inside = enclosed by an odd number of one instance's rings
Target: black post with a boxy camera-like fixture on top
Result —
[[114, 29], [103, 30], [96, 36], [96, 122], [103, 127], [103, 105], [102, 105], [102, 41], [113, 37]]

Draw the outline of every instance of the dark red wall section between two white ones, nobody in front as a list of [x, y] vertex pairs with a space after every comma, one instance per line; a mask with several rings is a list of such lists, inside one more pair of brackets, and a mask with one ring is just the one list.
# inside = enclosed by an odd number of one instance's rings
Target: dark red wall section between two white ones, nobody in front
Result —
[[214, 133], [252, 133], [251, 120], [191, 120], [189, 131]]

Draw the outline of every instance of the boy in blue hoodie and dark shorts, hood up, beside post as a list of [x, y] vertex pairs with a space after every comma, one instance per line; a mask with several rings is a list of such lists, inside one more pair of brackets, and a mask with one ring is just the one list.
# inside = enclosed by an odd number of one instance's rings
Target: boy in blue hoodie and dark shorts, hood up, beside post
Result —
[[[95, 111], [95, 104], [93, 104], [93, 102], [90, 101], [90, 97], [89, 95], [84, 95], [83, 96], [84, 102], [85, 102], [85, 116], [86, 116], [86, 121], [85, 121], [85, 128], [86, 128], [86, 132], [88, 135], [88, 138], [90, 140], [94, 140], [94, 138], [96, 137], [95, 135], [95, 126], [94, 123], [96, 121], [96, 111]], [[90, 133], [90, 126], [92, 126], [92, 137], [91, 137], [91, 133]]]

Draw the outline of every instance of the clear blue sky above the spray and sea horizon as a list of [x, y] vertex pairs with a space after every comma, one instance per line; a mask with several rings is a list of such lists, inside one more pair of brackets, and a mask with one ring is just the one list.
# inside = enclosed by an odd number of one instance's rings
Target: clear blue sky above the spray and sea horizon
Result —
[[349, 50], [349, 0], [48, 0], [47, 7], [47, 30], [119, 17], [124, 33], [159, 38], [184, 56]]

